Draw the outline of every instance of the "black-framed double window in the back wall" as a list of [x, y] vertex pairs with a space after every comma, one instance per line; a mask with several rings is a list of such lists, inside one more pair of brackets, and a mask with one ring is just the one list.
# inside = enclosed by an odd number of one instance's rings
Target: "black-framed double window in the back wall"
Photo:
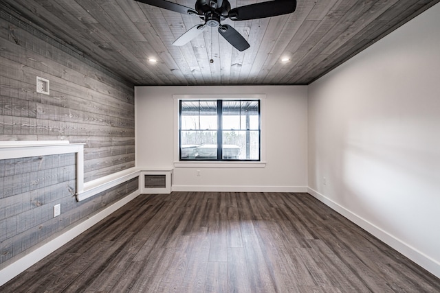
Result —
[[179, 101], [180, 161], [260, 161], [259, 99]]

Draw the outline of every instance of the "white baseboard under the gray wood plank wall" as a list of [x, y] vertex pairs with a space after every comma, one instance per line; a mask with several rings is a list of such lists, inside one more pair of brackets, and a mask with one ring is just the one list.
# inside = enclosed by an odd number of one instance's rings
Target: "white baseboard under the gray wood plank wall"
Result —
[[70, 228], [62, 235], [59, 235], [58, 237], [52, 239], [50, 242], [47, 242], [43, 246], [36, 248], [36, 250], [33, 250], [28, 255], [21, 257], [21, 259], [3, 268], [2, 270], [0, 270], [0, 286], [10, 281], [12, 278], [16, 277], [21, 272], [24, 272], [25, 270], [33, 266], [35, 263], [37, 263], [44, 257], [47, 257], [47, 255], [50, 255], [55, 250], [57, 250], [58, 248], [60, 248], [70, 240], [74, 239], [76, 236], [80, 235], [88, 228], [91, 228], [91, 226], [94, 226], [95, 224], [100, 222], [100, 220], [104, 219], [114, 211], [120, 209], [120, 207], [124, 206], [124, 204], [130, 202], [139, 195], [140, 195], [140, 190], [137, 190], [132, 194], [129, 194], [129, 196], [126, 196], [122, 198], [122, 200], [119, 200], [118, 202], [111, 204], [106, 209], [100, 211], [99, 213], [96, 213], [96, 215], [91, 216], [84, 222], [81, 222], [80, 224], [74, 226], [73, 228]]

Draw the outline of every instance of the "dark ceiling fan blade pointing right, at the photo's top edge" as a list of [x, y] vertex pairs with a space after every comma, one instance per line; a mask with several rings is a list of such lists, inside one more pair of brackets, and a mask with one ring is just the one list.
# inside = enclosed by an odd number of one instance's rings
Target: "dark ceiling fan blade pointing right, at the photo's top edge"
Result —
[[273, 0], [233, 8], [229, 12], [232, 21], [247, 21], [289, 14], [296, 9], [296, 0]]

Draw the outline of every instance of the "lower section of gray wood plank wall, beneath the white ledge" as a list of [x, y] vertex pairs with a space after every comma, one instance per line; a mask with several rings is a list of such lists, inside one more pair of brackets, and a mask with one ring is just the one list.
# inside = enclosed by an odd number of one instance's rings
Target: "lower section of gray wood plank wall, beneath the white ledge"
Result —
[[[138, 189], [138, 178], [77, 202], [75, 154], [0, 160], [0, 268]], [[53, 207], [61, 204], [61, 215]]]

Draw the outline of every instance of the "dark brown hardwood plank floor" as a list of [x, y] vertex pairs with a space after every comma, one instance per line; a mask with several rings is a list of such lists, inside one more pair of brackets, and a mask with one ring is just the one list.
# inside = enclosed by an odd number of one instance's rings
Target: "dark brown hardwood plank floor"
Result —
[[0, 292], [440, 292], [308, 194], [141, 195]]

